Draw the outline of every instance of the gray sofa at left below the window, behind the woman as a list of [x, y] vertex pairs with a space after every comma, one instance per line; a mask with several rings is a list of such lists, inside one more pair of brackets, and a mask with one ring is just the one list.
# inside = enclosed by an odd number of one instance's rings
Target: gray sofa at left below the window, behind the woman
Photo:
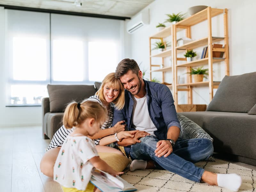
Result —
[[99, 82], [94, 85], [47, 85], [49, 97], [42, 100], [43, 138], [52, 139], [60, 128], [64, 110], [69, 102], [89, 98], [99, 87]]

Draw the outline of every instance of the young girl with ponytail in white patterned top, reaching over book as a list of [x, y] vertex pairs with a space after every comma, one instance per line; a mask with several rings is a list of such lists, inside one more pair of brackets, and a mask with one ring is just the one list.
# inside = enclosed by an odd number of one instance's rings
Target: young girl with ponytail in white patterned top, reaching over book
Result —
[[114, 176], [123, 173], [116, 172], [100, 159], [94, 141], [88, 137], [99, 132], [106, 118], [107, 110], [98, 102], [87, 100], [81, 104], [68, 104], [63, 124], [67, 129], [74, 130], [64, 141], [53, 168], [53, 179], [60, 183], [64, 192], [75, 192], [76, 189], [92, 191], [94, 186], [88, 183], [93, 167]]

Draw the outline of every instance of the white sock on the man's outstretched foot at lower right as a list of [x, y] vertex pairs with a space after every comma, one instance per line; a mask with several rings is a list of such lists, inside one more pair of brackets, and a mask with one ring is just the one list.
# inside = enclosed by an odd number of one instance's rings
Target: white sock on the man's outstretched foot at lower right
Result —
[[232, 191], [238, 191], [242, 179], [237, 174], [217, 174], [217, 182], [219, 187], [224, 187]]

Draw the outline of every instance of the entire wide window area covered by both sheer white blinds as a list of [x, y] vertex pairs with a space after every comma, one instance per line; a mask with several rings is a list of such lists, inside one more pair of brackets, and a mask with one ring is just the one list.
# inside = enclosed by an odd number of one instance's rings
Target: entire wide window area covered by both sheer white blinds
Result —
[[47, 84], [93, 84], [123, 58], [124, 21], [5, 10], [6, 105], [40, 105]]

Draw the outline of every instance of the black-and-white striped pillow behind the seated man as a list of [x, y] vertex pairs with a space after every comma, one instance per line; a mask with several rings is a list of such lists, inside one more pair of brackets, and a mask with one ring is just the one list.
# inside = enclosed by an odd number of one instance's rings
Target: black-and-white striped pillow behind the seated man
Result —
[[[185, 139], [208, 139], [213, 141], [212, 137], [205, 132], [198, 124], [191, 121], [189, 118], [177, 113], [178, 120], [180, 122], [180, 138]], [[214, 157], [210, 156], [206, 161], [215, 161]]]

